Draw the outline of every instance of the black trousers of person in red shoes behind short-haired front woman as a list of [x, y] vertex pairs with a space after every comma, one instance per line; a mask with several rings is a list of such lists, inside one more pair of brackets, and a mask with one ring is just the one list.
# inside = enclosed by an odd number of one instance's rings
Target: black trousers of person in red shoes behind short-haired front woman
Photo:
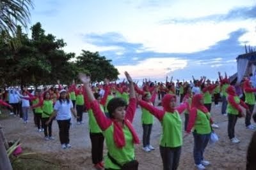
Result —
[[90, 139], [92, 142], [92, 162], [98, 164], [103, 160], [104, 136], [102, 133], [90, 132]]

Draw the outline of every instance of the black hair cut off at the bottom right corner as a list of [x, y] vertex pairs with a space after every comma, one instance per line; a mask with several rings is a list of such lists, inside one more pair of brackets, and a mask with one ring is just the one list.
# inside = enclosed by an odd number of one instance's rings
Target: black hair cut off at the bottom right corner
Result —
[[256, 132], [253, 133], [252, 139], [247, 149], [246, 170], [256, 169]]

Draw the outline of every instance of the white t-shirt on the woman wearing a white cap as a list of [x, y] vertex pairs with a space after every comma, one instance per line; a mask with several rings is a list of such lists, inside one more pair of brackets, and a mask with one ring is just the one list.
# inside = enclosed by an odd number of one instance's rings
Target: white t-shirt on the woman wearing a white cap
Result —
[[73, 108], [72, 101], [69, 100], [69, 103], [67, 101], [63, 101], [60, 103], [60, 101], [56, 101], [54, 105], [54, 110], [57, 111], [56, 120], [68, 120], [71, 117], [71, 108]]

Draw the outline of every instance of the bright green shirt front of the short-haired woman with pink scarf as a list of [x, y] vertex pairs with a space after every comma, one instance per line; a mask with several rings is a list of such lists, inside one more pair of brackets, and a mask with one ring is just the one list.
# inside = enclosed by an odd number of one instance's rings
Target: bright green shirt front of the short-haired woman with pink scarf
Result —
[[[110, 125], [108, 129], [106, 129], [106, 131], [102, 132], [106, 139], [106, 145], [108, 148], [109, 155], [111, 155], [111, 157], [113, 157], [121, 165], [131, 160], [134, 160], [134, 143], [129, 128], [126, 125], [124, 125], [123, 132], [125, 138], [125, 146], [122, 148], [116, 147], [113, 138], [113, 131], [113, 125]], [[116, 166], [115, 164], [113, 164], [113, 162], [111, 162], [108, 156], [105, 157], [104, 163], [106, 169], [120, 169], [120, 167]]]

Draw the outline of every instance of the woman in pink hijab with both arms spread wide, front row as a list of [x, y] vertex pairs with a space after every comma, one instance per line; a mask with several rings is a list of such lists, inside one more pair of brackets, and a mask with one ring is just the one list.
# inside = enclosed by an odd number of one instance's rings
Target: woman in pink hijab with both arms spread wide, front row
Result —
[[166, 94], [162, 99], [163, 110], [159, 110], [145, 101], [139, 101], [141, 108], [145, 108], [154, 115], [163, 127], [160, 153], [164, 170], [175, 170], [179, 166], [182, 146], [182, 123], [179, 115], [188, 108], [188, 103], [175, 108], [176, 102], [175, 94]]

